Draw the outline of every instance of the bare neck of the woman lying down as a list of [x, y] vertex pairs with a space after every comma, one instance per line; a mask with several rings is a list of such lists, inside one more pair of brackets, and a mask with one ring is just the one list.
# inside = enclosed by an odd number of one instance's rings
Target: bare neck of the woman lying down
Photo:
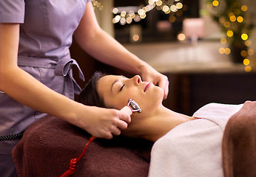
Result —
[[194, 119], [193, 117], [171, 111], [164, 106], [160, 106], [155, 111], [145, 113], [144, 115], [142, 115], [142, 112], [140, 114], [132, 117], [132, 122], [124, 133], [127, 133], [128, 136], [136, 136], [152, 142], [164, 136], [177, 125]]

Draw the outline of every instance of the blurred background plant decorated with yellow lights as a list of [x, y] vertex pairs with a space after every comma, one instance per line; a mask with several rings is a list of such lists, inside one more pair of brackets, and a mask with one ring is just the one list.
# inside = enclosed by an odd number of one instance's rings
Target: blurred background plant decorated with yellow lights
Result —
[[209, 15], [226, 34], [226, 38], [221, 38], [220, 42], [229, 44], [234, 62], [243, 62], [250, 53], [247, 48], [254, 27], [253, 14], [249, 13], [242, 0], [207, 0], [206, 3]]

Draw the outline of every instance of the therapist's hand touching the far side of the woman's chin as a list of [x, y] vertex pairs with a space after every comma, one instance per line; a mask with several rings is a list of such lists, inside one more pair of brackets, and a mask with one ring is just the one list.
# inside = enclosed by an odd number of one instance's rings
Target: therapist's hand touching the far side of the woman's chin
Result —
[[164, 100], [166, 100], [169, 93], [169, 80], [166, 75], [157, 72], [151, 66], [141, 69], [142, 80], [150, 83], [154, 83], [155, 86], [159, 86], [164, 91]]

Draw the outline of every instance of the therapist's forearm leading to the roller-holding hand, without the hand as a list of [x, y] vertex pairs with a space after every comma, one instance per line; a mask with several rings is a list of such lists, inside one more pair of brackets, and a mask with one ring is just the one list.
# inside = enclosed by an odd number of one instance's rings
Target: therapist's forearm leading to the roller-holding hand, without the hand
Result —
[[75, 101], [44, 86], [16, 66], [1, 69], [0, 89], [23, 105], [75, 123]]

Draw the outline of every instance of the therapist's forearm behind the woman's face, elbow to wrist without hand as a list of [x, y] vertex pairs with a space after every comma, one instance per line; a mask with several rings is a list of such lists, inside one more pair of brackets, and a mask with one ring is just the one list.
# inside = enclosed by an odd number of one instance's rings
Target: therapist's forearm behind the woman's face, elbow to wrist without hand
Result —
[[88, 39], [78, 39], [77, 41], [79, 46], [93, 58], [124, 71], [141, 74], [141, 69], [149, 66], [103, 30], [98, 30], [97, 34], [90, 38], [90, 41]]

